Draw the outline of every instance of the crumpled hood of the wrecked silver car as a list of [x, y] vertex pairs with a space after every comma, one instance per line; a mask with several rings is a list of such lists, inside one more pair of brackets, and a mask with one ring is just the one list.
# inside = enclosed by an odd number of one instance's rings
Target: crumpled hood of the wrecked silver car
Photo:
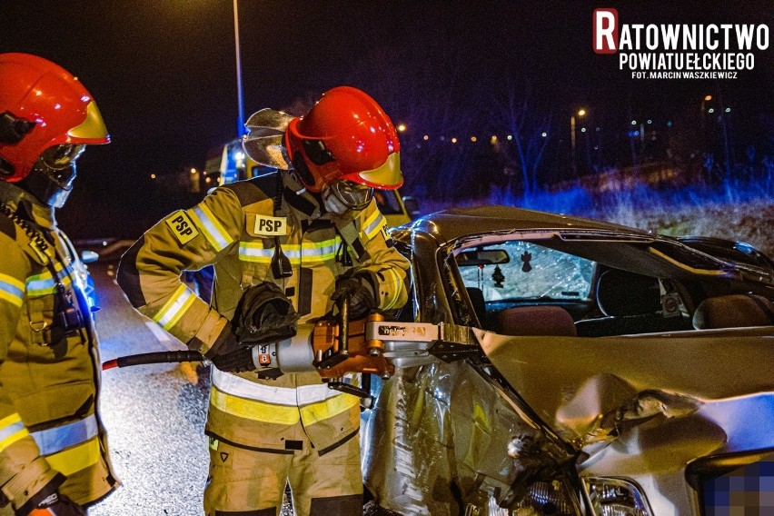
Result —
[[774, 446], [770, 426], [764, 433], [736, 425], [729, 413], [746, 405], [768, 406], [768, 416], [757, 417], [774, 422], [771, 327], [594, 339], [474, 332], [524, 401], [584, 452], [593, 454], [653, 418], [692, 413], [726, 431], [719, 451], [733, 452], [738, 442]]

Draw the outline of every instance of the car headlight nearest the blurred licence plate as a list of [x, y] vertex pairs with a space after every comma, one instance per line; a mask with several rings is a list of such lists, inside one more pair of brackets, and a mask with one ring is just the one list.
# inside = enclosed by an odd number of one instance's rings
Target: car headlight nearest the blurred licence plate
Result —
[[600, 516], [653, 516], [645, 495], [633, 481], [584, 478], [591, 507]]

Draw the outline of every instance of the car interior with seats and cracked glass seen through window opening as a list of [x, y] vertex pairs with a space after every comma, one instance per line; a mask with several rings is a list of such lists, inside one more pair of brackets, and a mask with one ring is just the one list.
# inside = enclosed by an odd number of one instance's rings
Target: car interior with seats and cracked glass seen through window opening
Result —
[[774, 325], [774, 303], [751, 293], [633, 273], [538, 243], [464, 250], [456, 263], [484, 330], [606, 337]]

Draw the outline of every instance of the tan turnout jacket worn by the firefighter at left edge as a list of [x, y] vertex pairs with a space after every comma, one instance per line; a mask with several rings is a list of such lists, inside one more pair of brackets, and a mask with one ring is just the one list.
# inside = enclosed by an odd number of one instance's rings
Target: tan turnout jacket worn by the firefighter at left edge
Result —
[[[0, 514], [57, 471], [60, 491], [88, 504], [117, 484], [97, 413], [94, 320], [51, 208], [4, 181], [0, 203], [0, 502], [10, 501]], [[66, 332], [59, 285], [83, 320]]]

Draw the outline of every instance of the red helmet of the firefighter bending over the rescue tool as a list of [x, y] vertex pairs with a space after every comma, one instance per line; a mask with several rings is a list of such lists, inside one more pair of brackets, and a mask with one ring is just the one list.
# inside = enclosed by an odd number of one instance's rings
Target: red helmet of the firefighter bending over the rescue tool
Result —
[[357, 88], [325, 92], [309, 113], [290, 121], [284, 144], [312, 192], [338, 180], [391, 190], [403, 184], [398, 133], [379, 104]]

